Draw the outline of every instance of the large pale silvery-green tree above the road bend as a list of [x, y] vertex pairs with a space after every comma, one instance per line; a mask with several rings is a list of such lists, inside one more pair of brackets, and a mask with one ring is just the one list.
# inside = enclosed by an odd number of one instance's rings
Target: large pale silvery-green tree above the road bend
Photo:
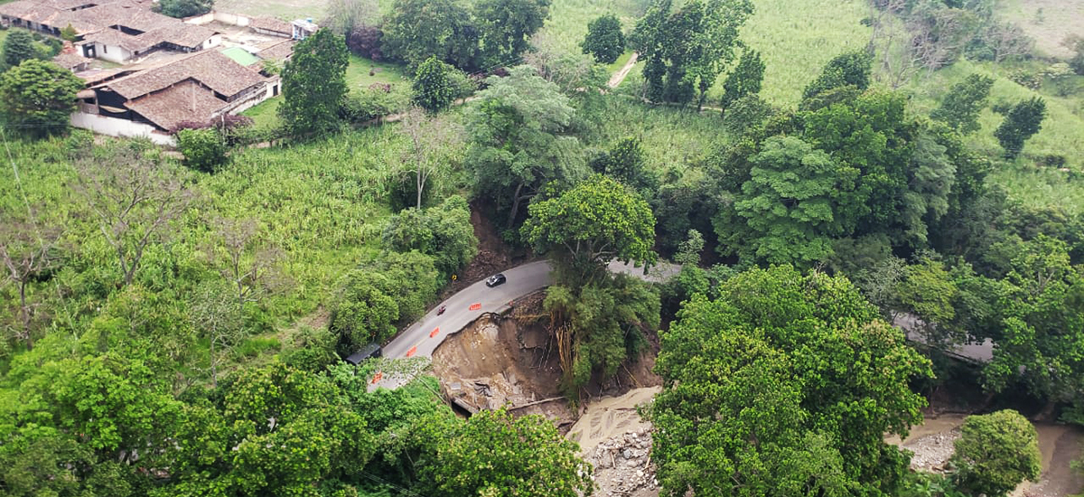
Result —
[[522, 203], [542, 186], [576, 174], [566, 155], [577, 141], [559, 136], [576, 110], [531, 66], [514, 67], [508, 77], [488, 82], [468, 111], [465, 164], [476, 178], [477, 194], [507, 209], [505, 226], [511, 229]]

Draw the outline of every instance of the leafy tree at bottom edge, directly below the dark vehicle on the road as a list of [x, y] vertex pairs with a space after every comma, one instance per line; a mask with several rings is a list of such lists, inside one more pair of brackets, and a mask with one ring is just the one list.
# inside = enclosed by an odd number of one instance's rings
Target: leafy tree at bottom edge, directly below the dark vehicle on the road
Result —
[[176, 484], [154, 495], [356, 495], [375, 444], [327, 377], [276, 361], [224, 388], [218, 404], [186, 406], [170, 450]]

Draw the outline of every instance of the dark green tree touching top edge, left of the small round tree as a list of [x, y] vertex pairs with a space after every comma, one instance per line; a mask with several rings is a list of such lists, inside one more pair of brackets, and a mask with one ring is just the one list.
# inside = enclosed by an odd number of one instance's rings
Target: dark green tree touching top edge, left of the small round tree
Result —
[[550, 16], [550, 0], [478, 0], [474, 16], [486, 67], [511, 66]]

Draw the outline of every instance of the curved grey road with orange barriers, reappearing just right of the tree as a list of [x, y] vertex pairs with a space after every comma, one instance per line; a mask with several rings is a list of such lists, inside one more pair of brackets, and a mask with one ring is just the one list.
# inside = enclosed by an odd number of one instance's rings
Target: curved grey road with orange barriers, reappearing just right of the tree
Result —
[[[486, 286], [485, 281], [479, 281], [456, 292], [388, 343], [384, 347], [384, 357], [403, 359], [409, 354], [409, 357], [433, 358], [433, 352], [448, 335], [466, 328], [483, 313], [502, 313], [508, 308], [508, 303], [512, 301], [530, 295], [552, 284], [551, 269], [549, 260], [529, 263], [503, 271], [507, 278], [507, 282], [504, 284], [489, 288]], [[615, 260], [610, 263], [609, 270], [635, 276], [645, 281], [660, 282], [676, 275], [681, 270], [681, 266], [662, 263], [644, 275], [643, 267], [634, 267]], [[472, 310], [470, 307], [475, 304], [478, 304], [478, 308]], [[444, 314], [437, 316], [437, 309], [441, 305], [446, 307]], [[434, 333], [435, 331], [436, 333]], [[370, 390], [378, 386], [395, 388], [408, 380], [409, 378], [392, 378], [390, 374], [387, 377], [382, 374], [380, 381], [370, 384]]]

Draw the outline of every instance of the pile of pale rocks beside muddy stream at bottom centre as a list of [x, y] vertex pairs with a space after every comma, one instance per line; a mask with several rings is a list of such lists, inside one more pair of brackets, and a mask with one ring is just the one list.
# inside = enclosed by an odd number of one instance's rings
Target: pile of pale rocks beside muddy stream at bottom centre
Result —
[[595, 467], [601, 496], [648, 497], [659, 495], [651, 466], [651, 433], [641, 428], [601, 442], [584, 456]]

